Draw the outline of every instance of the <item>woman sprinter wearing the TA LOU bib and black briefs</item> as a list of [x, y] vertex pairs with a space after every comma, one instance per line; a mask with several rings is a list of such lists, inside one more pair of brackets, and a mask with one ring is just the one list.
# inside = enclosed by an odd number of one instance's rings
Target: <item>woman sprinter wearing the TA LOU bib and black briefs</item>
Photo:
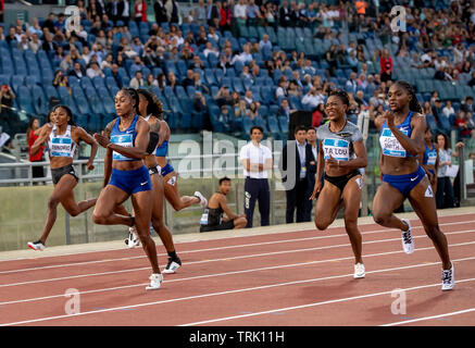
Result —
[[325, 169], [325, 183], [322, 188], [322, 181], [315, 179], [310, 199], [320, 192], [315, 207], [315, 226], [320, 231], [326, 229], [345, 206], [345, 227], [355, 258], [354, 278], [363, 278], [362, 240], [357, 223], [363, 187], [359, 169], [366, 166], [367, 157], [360, 129], [346, 117], [349, 105], [346, 91], [330, 92], [325, 107], [329, 122], [316, 129], [320, 141], [316, 178], [322, 177]]

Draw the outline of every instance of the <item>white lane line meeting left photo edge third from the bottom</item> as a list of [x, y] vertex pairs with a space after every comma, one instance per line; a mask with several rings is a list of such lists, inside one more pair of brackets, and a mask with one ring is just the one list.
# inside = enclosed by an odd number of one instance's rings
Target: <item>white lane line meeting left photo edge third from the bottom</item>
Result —
[[[470, 234], [470, 233], [473, 233], [473, 232], [475, 232], [475, 229], [451, 232], [451, 233], [446, 233], [446, 235]], [[414, 236], [413, 239], [425, 238], [425, 237], [426, 237], [425, 235]], [[396, 241], [396, 240], [401, 240], [401, 238], [390, 238], [390, 239], [380, 239], [380, 240], [364, 241], [363, 245], [377, 244], [377, 243], [388, 243], [388, 241]], [[475, 241], [470, 241], [467, 244], [468, 245], [470, 244], [475, 244]], [[334, 249], [334, 248], [348, 247], [348, 246], [351, 246], [351, 245], [350, 244], [340, 244], [340, 245], [333, 245], [333, 246], [325, 246], [325, 247], [292, 249], [292, 250], [282, 250], [282, 251], [254, 253], [254, 254], [243, 254], [243, 256], [238, 256], [238, 257], [220, 258], [220, 259], [203, 260], [203, 261], [192, 261], [192, 262], [187, 262], [187, 264], [189, 265], [189, 264], [199, 264], [199, 263], [208, 263], [208, 262], [220, 262], [220, 261], [249, 259], [249, 258], [261, 258], [261, 257], [276, 256], [276, 254], [283, 254], [283, 253], [325, 250], [325, 249]], [[72, 276], [64, 276], [64, 277], [55, 277], [55, 278], [45, 278], [45, 279], [36, 279], [36, 281], [20, 282], [20, 283], [7, 283], [7, 284], [1, 284], [0, 288], [2, 288], [2, 287], [10, 287], [10, 286], [18, 286], [18, 285], [46, 283], [46, 282], [57, 282], [57, 281], [65, 281], [65, 279], [74, 279], [74, 278], [84, 278], [84, 277], [97, 276], [97, 275], [109, 275], [109, 274], [116, 274], [116, 273], [124, 273], [124, 272], [136, 272], [136, 271], [149, 270], [149, 269], [150, 269], [150, 266], [138, 268], [138, 269], [117, 270], [117, 271], [110, 271], [110, 272], [100, 272], [100, 273], [88, 273], [88, 274], [72, 275]]]

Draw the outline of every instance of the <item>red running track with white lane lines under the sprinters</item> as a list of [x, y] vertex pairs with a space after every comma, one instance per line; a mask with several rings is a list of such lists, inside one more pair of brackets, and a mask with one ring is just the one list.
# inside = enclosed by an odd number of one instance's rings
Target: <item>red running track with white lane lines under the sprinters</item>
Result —
[[411, 222], [410, 256], [400, 232], [360, 226], [364, 279], [353, 279], [342, 227], [176, 244], [183, 266], [157, 291], [145, 289], [141, 248], [1, 261], [0, 325], [474, 325], [475, 214], [439, 217], [452, 291], [440, 290], [438, 254]]

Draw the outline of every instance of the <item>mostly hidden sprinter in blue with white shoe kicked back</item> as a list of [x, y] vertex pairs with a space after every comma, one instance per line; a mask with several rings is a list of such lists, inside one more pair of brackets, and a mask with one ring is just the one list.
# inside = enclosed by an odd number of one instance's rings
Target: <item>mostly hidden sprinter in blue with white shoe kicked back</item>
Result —
[[163, 182], [165, 183], [165, 198], [170, 204], [172, 204], [175, 211], [180, 211], [192, 204], [200, 203], [201, 208], [207, 208], [208, 200], [199, 191], [195, 191], [195, 196], [183, 196], [179, 197], [178, 184], [176, 179], [176, 172], [173, 166], [166, 160], [166, 154], [168, 152], [168, 140], [170, 140], [170, 127], [166, 121], [163, 120], [163, 113], [160, 116], [160, 140], [157, 147], [155, 157], [157, 162], [162, 169]]

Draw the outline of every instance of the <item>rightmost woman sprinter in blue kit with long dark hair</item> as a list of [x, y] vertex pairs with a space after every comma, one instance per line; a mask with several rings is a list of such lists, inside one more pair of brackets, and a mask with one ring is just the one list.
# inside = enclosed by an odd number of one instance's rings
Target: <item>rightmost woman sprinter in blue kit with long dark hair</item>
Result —
[[439, 228], [430, 183], [417, 162], [418, 154], [425, 149], [425, 116], [421, 114], [414, 88], [407, 82], [391, 85], [388, 101], [390, 111], [375, 120], [380, 132], [383, 184], [373, 200], [373, 219], [382, 226], [401, 229], [403, 250], [412, 253], [411, 224], [393, 214], [393, 210], [408, 198], [442, 261], [442, 290], [450, 290], [454, 278], [447, 238]]

